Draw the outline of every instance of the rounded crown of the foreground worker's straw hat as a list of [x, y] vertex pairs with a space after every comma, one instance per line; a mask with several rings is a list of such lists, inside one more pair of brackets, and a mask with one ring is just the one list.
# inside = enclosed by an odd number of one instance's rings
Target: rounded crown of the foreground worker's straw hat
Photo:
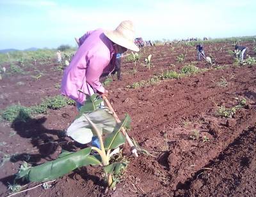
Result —
[[135, 37], [135, 31], [133, 24], [130, 20], [124, 20], [122, 21], [118, 27], [116, 27], [116, 32], [124, 36], [129, 41], [134, 40]]

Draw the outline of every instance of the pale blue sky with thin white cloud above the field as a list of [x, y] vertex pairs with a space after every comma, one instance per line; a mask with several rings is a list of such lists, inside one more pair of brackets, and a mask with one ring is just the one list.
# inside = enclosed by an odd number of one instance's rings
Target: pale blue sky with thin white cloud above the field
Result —
[[74, 37], [132, 20], [144, 40], [256, 34], [255, 0], [0, 0], [0, 49], [75, 46]]

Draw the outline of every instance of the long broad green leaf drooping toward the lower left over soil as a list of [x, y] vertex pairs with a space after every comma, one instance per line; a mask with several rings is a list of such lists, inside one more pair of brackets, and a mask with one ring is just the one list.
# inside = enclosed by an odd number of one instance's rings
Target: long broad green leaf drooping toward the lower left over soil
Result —
[[28, 170], [22, 171], [17, 174], [17, 179], [26, 177], [32, 182], [43, 182], [47, 180], [57, 179], [69, 173], [76, 168], [87, 166], [89, 164], [100, 164], [100, 161], [93, 156], [89, 156], [92, 148], [86, 148], [63, 156], [54, 161], [49, 161], [39, 166], [29, 168]]

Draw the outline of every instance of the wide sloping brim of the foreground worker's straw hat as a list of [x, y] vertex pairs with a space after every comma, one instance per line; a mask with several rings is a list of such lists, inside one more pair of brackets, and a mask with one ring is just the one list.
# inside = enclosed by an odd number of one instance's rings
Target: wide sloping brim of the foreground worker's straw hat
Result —
[[128, 48], [129, 50], [133, 50], [135, 52], [140, 51], [140, 48], [137, 47], [137, 45], [135, 45], [134, 42], [125, 39], [124, 36], [116, 32], [115, 30], [114, 31], [106, 30], [104, 31], [104, 34], [109, 38], [109, 40], [113, 41], [114, 43], [122, 47]]

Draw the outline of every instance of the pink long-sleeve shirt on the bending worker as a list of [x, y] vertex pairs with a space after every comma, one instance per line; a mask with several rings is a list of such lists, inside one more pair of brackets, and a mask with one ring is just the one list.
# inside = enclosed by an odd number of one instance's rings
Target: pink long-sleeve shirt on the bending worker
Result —
[[112, 41], [104, 35], [102, 29], [84, 34], [79, 41], [81, 46], [64, 71], [61, 94], [83, 105], [86, 96], [78, 90], [88, 95], [105, 91], [99, 78], [102, 73], [113, 70], [109, 62], [115, 50]]

